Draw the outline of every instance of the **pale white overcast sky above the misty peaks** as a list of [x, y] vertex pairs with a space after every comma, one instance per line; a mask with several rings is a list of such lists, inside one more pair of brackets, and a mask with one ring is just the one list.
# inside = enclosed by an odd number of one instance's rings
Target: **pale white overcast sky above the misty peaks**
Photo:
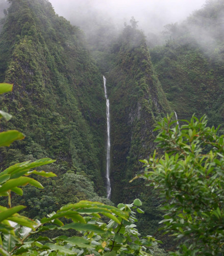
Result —
[[[192, 11], [200, 9], [206, 0], [49, 0], [56, 13], [69, 20], [88, 17], [94, 12], [123, 23], [132, 16], [139, 28], [150, 26], [161, 30], [164, 25], [180, 22]], [[74, 24], [76, 25], [76, 24]]]

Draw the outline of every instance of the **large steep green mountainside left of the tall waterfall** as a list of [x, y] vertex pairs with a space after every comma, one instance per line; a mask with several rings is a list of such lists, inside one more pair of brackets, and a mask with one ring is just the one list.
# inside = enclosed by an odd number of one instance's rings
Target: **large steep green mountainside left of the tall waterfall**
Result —
[[14, 84], [13, 92], [1, 98], [13, 119], [1, 127], [27, 137], [1, 152], [1, 168], [52, 157], [56, 173], [84, 171], [106, 195], [103, 76], [83, 34], [56, 15], [48, 1], [10, 2], [0, 36], [0, 81]]

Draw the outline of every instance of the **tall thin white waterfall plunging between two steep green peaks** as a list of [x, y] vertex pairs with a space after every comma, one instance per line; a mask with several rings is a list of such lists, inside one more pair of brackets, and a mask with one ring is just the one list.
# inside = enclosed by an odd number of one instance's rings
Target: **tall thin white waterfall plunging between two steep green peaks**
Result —
[[106, 78], [104, 76], [104, 93], [107, 102], [107, 170], [106, 170], [106, 178], [107, 178], [107, 198], [111, 196], [111, 185], [110, 185], [110, 101], [107, 97], [107, 88], [106, 88]]

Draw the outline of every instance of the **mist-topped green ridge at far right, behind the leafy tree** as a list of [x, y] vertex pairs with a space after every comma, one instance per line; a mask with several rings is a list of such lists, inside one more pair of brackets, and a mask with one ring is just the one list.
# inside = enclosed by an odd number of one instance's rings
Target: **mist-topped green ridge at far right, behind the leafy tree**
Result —
[[184, 23], [166, 26], [166, 44], [151, 49], [159, 80], [180, 119], [208, 115], [224, 126], [224, 3], [208, 1]]

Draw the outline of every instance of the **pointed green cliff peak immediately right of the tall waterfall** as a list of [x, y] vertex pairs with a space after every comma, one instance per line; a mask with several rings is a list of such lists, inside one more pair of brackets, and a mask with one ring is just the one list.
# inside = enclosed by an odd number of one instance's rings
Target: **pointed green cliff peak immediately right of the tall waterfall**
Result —
[[[111, 102], [112, 200], [129, 200], [128, 182], [141, 168], [138, 160], [154, 150], [154, 124], [169, 111], [154, 72], [143, 34], [128, 26], [114, 51], [117, 62], [108, 75]], [[124, 188], [127, 188], [124, 190]], [[136, 196], [136, 195], [135, 195]]]

